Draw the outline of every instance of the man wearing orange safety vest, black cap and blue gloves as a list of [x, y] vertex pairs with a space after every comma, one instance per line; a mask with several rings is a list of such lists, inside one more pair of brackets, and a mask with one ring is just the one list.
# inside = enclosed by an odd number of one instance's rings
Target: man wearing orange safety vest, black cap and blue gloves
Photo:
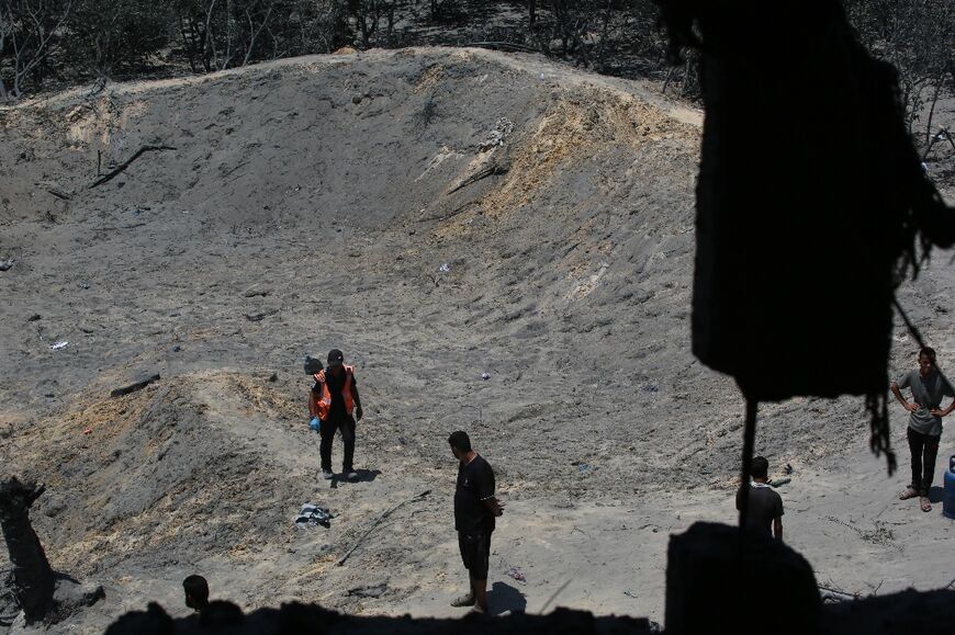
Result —
[[[335, 431], [341, 430], [345, 443], [342, 472], [348, 480], [358, 480], [352, 461], [355, 458], [355, 422], [361, 421], [361, 399], [355, 382], [355, 366], [345, 365], [345, 355], [338, 349], [328, 352], [328, 365], [313, 375], [315, 383], [308, 396], [308, 415], [312, 429], [318, 430], [322, 456], [322, 477], [332, 478], [332, 441]], [[355, 417], [352, 417], [352, 411]]]

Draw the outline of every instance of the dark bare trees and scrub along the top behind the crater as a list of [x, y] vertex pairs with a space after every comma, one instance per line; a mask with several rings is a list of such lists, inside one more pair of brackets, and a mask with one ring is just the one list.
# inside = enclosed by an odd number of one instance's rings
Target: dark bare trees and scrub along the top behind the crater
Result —
[[[665, 68], [659, 1], [0, 0], [0, 101], [64, 83], [211, 72], [346, 45], [422, 44], [535, 50], [600, 72], [665, 76], [693, 98], [693, 58]], [[915, 126], [923, 106], [955, 83], [955, 2], [843, 4], [860, 39], [899, 69]]]

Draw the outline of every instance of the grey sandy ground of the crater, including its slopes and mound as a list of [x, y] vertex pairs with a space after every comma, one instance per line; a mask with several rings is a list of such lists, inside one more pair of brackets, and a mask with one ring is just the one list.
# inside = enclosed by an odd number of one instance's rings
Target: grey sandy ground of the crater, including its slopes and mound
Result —
[[[648, 84], [461, 49], [0, 110], [0, 259], [15, 260], [0, 273], [0, 461], [48, 484], [33, 518], [54, 566], [106, 588], [56, 630], [98, 632], [149, 600], [186, 614], [192, 572], [248, 610], [454, 614], [459, 428], [507, 506], [493, 611], [662, 622], [668, 536], [732, 522], [741, 445], [739, 394], [689, 354], [699, 121]], [[144, 145], [175, 149], [90, 188], [98, 160], [104, 173]], [[953, 288], [939, 254], [900, 293], [943, 368]], [[914, 353], [901, 328], [896, 343], [894, 373]], [[306, 426], [302, 356], [333, 347], [366, 404], [358, 484], [317, 478]], [[819, 343], [820, 372], [843, 358]], [[786, 540], [820, 583], [952, 579], [941, 504], [896, 500], [892, 417], [889, 478], [861, 398], [761, 410], [757, 452], [794, 467]], [[946, 431], [939, 485], [950, 454]], [[292, 524], [306, 501], [338, 514], [330, 529]]]

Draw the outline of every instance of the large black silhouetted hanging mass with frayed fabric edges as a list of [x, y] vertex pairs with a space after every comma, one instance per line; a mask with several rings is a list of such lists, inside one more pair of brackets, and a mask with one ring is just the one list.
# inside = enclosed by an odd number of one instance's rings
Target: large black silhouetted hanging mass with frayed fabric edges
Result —
[[694, 354], [748, 399], [865, 395], [889, 453], [894, 292], [955, 242], [895, 69], [835, 0], [660, 4], [671, 54], [700, 52]]

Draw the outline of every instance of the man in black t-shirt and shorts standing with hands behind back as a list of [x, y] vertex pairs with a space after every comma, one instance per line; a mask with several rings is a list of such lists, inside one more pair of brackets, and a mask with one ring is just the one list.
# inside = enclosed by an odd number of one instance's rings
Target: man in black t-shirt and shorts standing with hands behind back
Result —
[[495, 517], [504, 506], [494, 498], [494, 470], [471, 449], [467, 432], [448, 438], [451, 453], [460, 462], [454, 489], [454, 529], [461, 559], [471, 581], [471, 591], [451, 601], [452, 606], [474, 606], [487, 612], [487, 560], [491, 558], [491, 532]]

